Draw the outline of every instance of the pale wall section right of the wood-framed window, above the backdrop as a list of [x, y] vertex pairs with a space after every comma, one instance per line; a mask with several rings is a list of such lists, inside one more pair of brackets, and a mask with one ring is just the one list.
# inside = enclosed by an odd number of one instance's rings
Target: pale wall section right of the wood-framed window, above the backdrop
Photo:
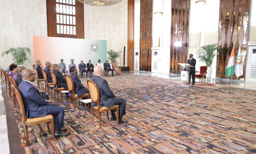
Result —
[[[107, 40], [107, 50], [123, 51], [127, 53], [127, 19], [128, 1], [107, 6], [85, 6], [85, 39]], [[108, 56], [108, 55], [107, 55]], [[102, 60], [104, 62], [105, 60]], [[116, 60], [119, 66], [123, 66], [123, 53]], [[125, 55], [127, 66], [127, 54]]]

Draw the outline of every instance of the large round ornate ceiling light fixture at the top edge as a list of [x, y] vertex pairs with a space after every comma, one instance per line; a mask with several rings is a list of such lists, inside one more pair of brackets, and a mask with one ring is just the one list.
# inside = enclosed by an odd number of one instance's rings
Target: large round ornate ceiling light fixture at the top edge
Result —
[[121, 0], [78, 0], [81, 3], [91, 5], [91, 6], [109, 6], [109, 5], [114, 5]]

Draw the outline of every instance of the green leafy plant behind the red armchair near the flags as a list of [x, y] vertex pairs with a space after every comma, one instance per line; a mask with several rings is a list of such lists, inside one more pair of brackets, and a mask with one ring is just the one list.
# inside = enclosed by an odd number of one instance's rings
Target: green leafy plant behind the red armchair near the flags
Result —
[[206, 66], [211, 67], [213, 58], [215, 56], [215, 50], [221, 52], [221, 48], [216, 46], [216, 44], [200, 47], [197, 51], [197, 57], [200, 59], [200, 62], [204, 62]]

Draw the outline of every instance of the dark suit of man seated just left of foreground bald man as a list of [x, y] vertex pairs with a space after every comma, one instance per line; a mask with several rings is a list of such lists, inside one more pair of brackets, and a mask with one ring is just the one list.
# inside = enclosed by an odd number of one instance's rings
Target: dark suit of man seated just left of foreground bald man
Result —
[[[78, 97], [81, 97], [82, 95], [89, 93], [89, 90], [85, 88], [85, 86], [82, 85], [79, 78], [74, 73], [70, 73], [71, 78], [74, 81], [74, 91], [77, 94]], [[72, 92], [68, 92], [68, 95], [71, 96]]]

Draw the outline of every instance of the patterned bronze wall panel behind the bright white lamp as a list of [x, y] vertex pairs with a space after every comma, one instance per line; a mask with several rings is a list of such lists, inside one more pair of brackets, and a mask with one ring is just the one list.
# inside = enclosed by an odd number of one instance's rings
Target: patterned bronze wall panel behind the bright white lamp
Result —
[[[172, 0], [171, 2], [171, 49], [170, 73], [177, 73], [178, 63], [188, 56], [190, 0]], [[181, 41], [181, 47], [175, 47], [174, 42]]]

